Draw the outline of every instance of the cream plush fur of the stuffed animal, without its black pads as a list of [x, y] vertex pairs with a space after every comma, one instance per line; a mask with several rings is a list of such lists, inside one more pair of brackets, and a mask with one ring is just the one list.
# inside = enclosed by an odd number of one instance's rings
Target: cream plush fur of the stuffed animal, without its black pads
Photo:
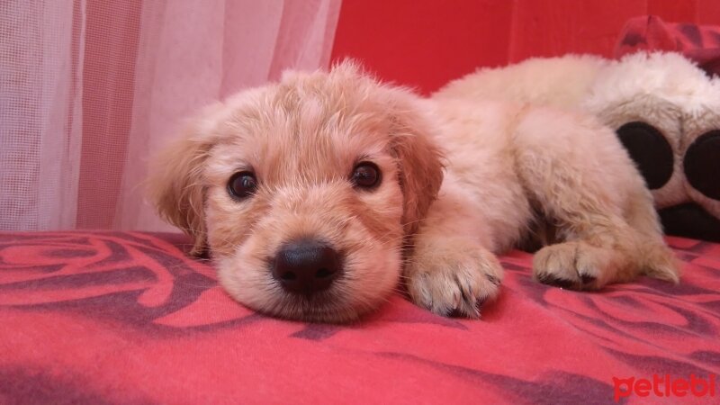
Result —
[[689, 187], [682, 169], [692, 140], [720, 128], [718, 87], [718, 79], [711, 81], [678, 53], [636, 53], [618, 61], [567, 55], [480, 69], [446, 85], [434, 98], [549, 105], [593, 114], [612, 130], [646, 122], [665, 135], [674, 155], [671, 179], [652, 192], [656, 207], [698, 202], [720, 218], [720, 203]]

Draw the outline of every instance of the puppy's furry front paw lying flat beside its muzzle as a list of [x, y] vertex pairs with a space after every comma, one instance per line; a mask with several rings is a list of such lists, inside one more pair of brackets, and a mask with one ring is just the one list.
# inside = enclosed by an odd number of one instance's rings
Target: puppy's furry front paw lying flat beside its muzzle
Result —
[[482, 247], [462, 241], [419, 245], [405, 272], [410, 298], [442, 316], [480, 317], [483, 302], [499, 293], [502, 267]]

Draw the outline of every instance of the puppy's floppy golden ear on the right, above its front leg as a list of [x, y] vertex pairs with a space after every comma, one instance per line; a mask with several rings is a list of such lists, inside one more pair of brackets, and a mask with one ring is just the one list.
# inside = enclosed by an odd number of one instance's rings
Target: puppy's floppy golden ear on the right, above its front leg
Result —
[[400, 164], [405, 234], [417, 232], [443, 183], [443, 152], [432, 133], [437, 125], [419, 96], [391, 89], [392, 151]]

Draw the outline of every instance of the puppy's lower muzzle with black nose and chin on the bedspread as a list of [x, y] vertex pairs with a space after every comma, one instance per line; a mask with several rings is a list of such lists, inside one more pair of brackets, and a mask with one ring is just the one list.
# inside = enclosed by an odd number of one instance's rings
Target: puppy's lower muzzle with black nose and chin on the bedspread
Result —
[[382, 244], [338, 248], [318, 238], [285, 242], [270, 257], [241, 248], [220, 265], [220, 284], [248, 307], [278, 318], [324, 323], [360, 319], [397, 287], [400, 250]]

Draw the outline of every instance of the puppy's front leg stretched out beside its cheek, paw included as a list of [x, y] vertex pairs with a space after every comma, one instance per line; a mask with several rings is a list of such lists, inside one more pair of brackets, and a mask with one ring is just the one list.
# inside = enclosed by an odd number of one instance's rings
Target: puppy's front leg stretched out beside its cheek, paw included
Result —
[[485, 246], [473, 202], [444, 184], [415, 236], [404, 269], [410, 298], [439, 315], [480, 317], [482, 302], [499, 293], [502, 267]]

